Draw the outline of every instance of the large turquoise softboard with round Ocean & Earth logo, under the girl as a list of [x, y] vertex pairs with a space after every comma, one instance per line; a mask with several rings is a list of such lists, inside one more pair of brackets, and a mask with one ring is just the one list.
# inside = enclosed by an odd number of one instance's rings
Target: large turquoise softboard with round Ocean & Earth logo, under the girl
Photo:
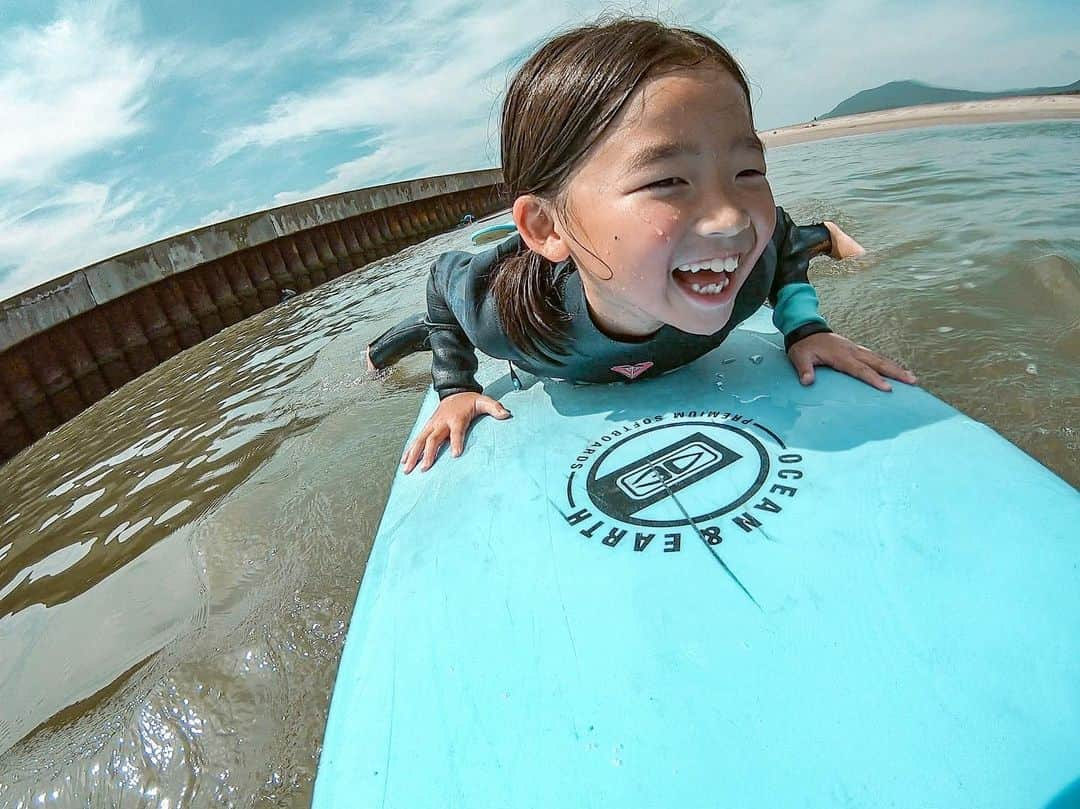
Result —
[[1080, 803], [1070, 485], [918, 388], [801, 387], [767, 311], [656, 379], [519, 376], [394, 481], [316, 809]]

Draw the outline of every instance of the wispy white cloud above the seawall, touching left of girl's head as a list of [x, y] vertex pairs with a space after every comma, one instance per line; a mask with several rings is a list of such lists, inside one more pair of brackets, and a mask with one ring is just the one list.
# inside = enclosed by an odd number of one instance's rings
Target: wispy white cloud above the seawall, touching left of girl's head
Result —
[[[597, 5], [593, 15], [598, 11]], [[583, 12], [542, 0], [512, 9], [489, 1], [481, 8], [447, 9], [440, 26], [431, 25], [427, 8], [423, 14], [414, 12], [401, 12], [393, 27], [372, 32], [356, 45], [370, 53], [377, 40], [378, 49], [395, 55], [389, 67], [279, 98], [262, 120], [226, 133], [214, 159], [329, 132], [377, 133], [365, 145], [374, 151], [334, 166], [323, 183], [278, 192], [278, 205], [411, 176], [496, 165], [499, 103], [508, 77], [491, 77], [492, 68], [544, 36], [536, 19], [555, 30], [579, 22]]]

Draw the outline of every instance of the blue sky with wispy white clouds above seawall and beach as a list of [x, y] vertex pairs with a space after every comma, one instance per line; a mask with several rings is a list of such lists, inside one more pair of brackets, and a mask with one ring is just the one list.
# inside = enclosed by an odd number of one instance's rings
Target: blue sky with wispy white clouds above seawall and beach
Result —
[[1080, 79], [1074, 0], [0, 0], [0, 300], [203, 225], [497, 165], [514, 67], [605, 12], [716, 37], [759, 129], [894, 80]]

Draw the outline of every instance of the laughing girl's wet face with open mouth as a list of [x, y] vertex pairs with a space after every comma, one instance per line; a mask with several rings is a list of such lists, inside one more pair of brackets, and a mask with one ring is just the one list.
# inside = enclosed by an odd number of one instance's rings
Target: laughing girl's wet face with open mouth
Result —
[[615, 336], [723, 328], [775, 227], [765, 171], [727, 71], [643, 81], [571, 176], [569, 221], [555, 217], [597, 325]]

